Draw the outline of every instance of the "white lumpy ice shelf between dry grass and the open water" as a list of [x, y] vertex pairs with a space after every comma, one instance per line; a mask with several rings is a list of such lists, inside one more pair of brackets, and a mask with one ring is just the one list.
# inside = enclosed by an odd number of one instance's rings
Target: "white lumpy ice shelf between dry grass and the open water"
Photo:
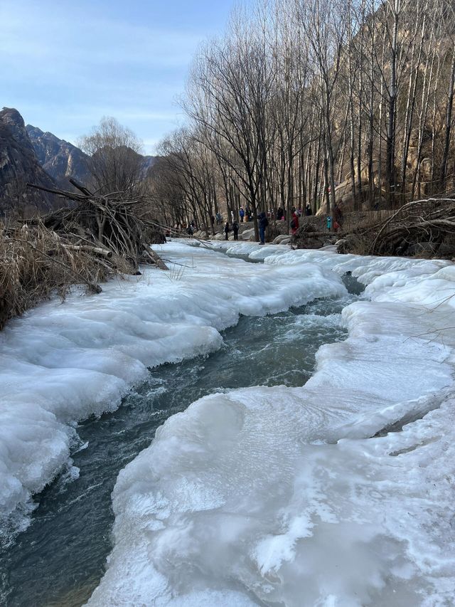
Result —
[[68, 464], [77, 421], [117, 408], [147, 367], [218, 349], [240, 314], [346, 292], [314, 265], [296, 275], [178, 243], [163, 250], [184, 267], [46, 302], [0, 333], [0, 516]]

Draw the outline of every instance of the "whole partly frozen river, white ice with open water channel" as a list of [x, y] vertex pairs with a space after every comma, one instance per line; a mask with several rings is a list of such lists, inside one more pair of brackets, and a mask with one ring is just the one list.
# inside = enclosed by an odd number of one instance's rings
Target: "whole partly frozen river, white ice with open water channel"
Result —
[[1, 604], [449, 605], [453, 266], [162, 253], [0, 337]]

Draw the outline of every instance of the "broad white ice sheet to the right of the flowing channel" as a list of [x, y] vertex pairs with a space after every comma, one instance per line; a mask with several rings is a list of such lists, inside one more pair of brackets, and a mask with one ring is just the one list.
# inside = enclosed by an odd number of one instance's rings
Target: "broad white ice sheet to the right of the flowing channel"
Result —
[[117, 479], [90, 606], [453, 603], [454, 266], [271, 249], [264, 268], [349, 271], [368, 300], [305, 386], [206, 396], [159, 428]]

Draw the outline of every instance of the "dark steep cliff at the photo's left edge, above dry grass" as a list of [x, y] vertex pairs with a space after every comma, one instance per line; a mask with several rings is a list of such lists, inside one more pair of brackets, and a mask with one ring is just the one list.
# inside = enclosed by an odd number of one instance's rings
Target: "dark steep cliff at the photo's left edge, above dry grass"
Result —
[[61, 204], [52, 194], [28, 188], [27, 182], [55, 187], [38, 162], [22, 116], [4, 107], [0, 111], [0, 216], [13, 212], [28, 216]]

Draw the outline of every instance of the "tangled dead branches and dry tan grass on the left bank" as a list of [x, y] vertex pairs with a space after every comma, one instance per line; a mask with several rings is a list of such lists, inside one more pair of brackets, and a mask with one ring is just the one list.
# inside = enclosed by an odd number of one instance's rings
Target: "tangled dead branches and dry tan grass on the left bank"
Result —
[[164, 232], [141, 218], [141, 199], [121, 192], [96, 196], [73, 181], [80, 193], [53, 190], [73, 202], [42, 217], [0, 224], [0, 329], [37, 302], [72, 285], [100, 292], [114, 275], [137, 274], [139, 263], [167, 270], [151, 243]]

